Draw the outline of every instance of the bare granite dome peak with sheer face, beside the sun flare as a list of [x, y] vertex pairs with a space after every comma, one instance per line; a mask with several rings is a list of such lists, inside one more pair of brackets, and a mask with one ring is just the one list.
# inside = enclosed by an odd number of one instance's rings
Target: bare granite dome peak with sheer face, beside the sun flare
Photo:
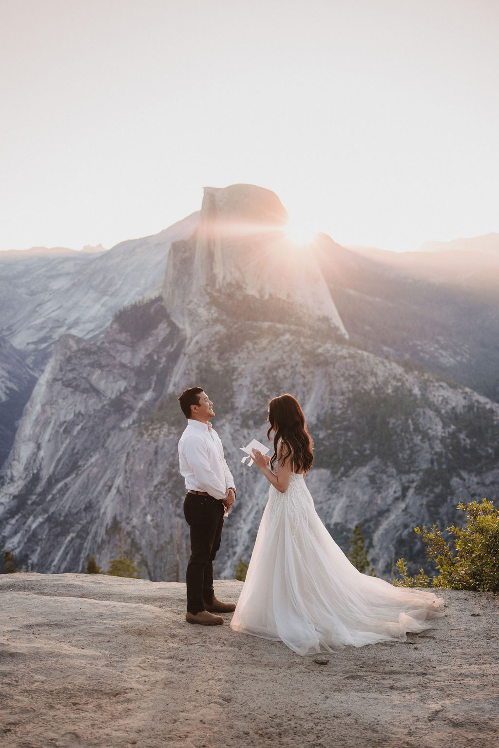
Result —
[[293, 316], [323, 317], [348, 337], [312, 245], [296, 245], [287, 221], [281, 200], [268, 189], [205, 187], [198, 230], [174, 243], [168, 257], [163, 294], [172, 319], [191, 334], [204, 324], [209, 293], [232, 292], [281, 299]]

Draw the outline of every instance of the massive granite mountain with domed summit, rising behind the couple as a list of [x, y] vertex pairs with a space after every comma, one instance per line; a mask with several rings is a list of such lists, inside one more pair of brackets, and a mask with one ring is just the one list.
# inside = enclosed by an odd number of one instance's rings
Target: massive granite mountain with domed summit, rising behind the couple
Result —
[[[266, 403], [284, 391], [315, 441], [307, 483], [319, 515], [345, 549], [361, 524], [379, 574], [402, 554], [413, 569], [424, 562], [415, 525], [460, 521], [459, 500], [495, 500], [499, 405], [386, 358], [376, 335], [365, 350], [365, 310], [386, 304], [369, 307], [365, 266], [328, 237], [296, 257], [285, 218], [269, 191], [207, 188], [198, 229], [171, 248], [162, 295], [117, 313], [97, 342], [59, 340], [3, 472], [0, 543], [19, 562], [79, 571], [90, 554], [105, 565], [123, 547], [150, 579], [183, 578], [177, 396], [192, 384], [215, 403], [239, 489], [221, 577], [248, 560], [268, 492], [239, 447], [265, 440]], [[348, 298], [359, 299], [357, 318]]]

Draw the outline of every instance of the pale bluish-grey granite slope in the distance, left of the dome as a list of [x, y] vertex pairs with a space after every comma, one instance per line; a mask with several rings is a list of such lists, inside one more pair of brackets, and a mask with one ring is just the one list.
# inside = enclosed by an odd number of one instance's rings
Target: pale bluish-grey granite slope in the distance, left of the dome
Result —
[[[16, 378], [0, 401], [0, 467], [55, 342], [67, 333], [96, 340], [117, 310], [154, 289], [157, 294], [171, 243], [190, 236], [198, 218], [199, 213], [193, 213], [155, 236], [121, 242], [109, 251], [34, 248], [0, 253], [0, 366], [19, 367], [22, 359], [28, 367], [28, 378]], [[7, 349], [8, 343], [13, 347]]]

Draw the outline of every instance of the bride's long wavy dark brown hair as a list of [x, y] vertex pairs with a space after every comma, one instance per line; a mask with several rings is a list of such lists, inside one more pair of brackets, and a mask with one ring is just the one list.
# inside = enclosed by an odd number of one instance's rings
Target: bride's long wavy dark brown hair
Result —
[[269, 423], [267, 437], [270, 439], [270, 432], [275, 431], [271, 467], [278, 459], [278, 443], [281, 441], [281, 459], [291, 457], [294, 469], [307, 473], [313, 463], [313, 441], [307, 432], [304, 413], [296, 397], [286, 393], [272, 398], [269, 402]]

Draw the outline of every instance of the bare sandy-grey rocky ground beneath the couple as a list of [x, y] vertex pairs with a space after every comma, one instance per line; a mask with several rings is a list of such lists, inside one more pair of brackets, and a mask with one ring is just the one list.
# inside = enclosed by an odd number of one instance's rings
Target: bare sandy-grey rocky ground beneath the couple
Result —
[[494, 595], [444, 590], [405, 644], [304, 658], [230, 616], [186, 624], [183, 584], [21, 573], [0, 592], [1, 748], [499, 744]]

